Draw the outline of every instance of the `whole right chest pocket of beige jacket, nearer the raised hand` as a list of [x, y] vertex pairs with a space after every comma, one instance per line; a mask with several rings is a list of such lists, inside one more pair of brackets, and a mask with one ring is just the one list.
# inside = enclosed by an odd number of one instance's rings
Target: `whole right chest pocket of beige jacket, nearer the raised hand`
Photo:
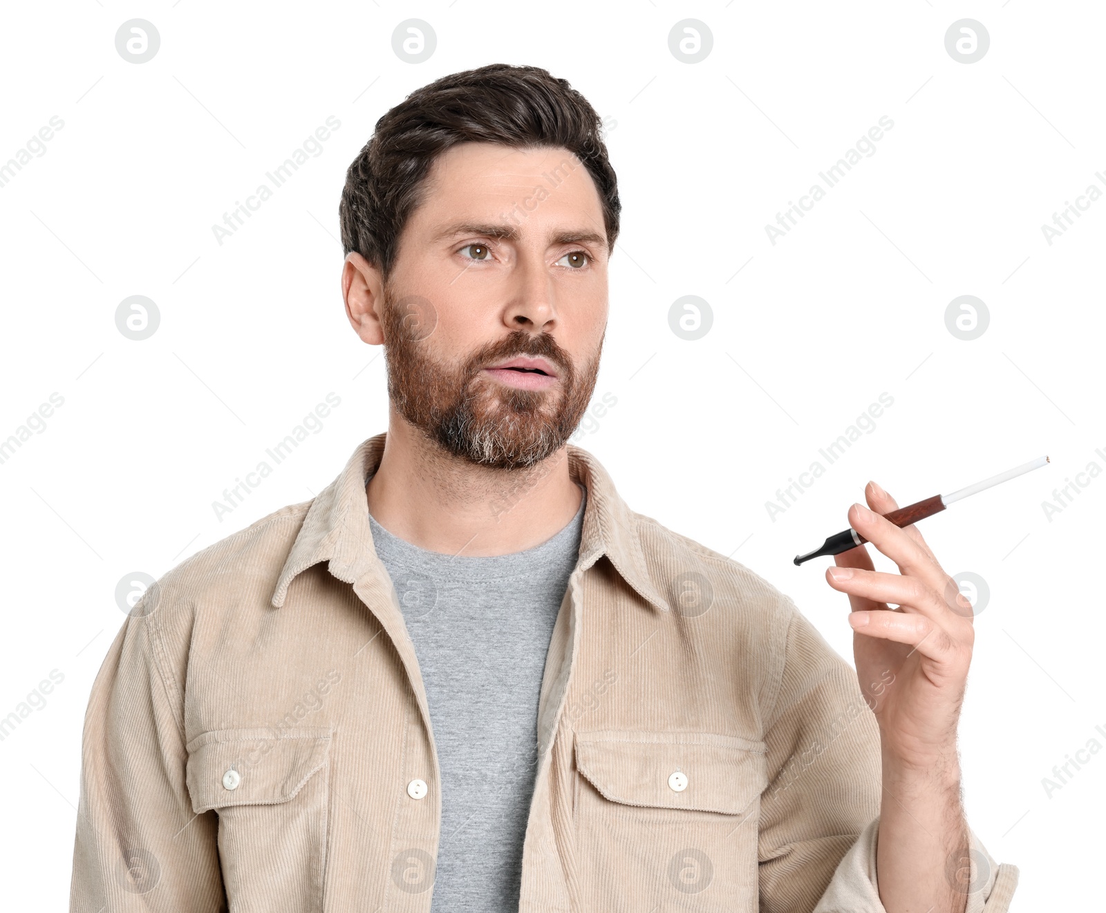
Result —
[[757, 911], [764, 751], [714, 733], [576, 733], [583, 906]]

